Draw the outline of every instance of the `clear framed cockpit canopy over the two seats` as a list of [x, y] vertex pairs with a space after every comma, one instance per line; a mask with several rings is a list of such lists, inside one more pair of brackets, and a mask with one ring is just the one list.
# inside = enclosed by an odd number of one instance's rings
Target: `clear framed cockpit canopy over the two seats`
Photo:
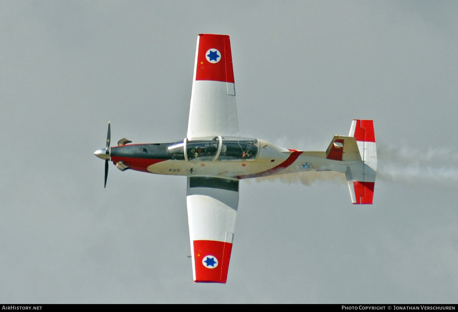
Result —
[[[255, 160], [259, 151], [256, 139], [243, 137], [214, 137], [211, 140], [192, 140], [170, 143], [172, 159], [189, 161]], [[186, 152], [186, 153], [185, 153]]]

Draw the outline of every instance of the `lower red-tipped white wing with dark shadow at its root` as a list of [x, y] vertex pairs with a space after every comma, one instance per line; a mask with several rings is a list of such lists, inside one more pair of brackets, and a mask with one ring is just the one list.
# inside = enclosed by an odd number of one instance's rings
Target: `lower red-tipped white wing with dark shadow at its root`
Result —
[[188, 177], [186, 203], [194, 281], [226, 283], [239, 181]]

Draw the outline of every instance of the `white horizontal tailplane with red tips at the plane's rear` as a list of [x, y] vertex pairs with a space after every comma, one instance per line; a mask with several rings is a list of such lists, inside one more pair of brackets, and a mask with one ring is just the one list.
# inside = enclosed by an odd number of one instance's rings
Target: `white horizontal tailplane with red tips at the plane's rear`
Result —
[[345, 173], [351, 201], [354, 204], [371, 204], [374, 197], [377, 171], [374, 122], [372, 120], [354, 119], [350, 127], [349, 137], [356, 139], [362, 160], [360, 164], [348, 166]]

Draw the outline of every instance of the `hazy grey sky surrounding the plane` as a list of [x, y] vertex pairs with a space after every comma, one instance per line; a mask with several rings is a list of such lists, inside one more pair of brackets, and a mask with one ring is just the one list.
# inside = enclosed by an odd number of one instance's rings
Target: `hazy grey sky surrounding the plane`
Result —
[[[456, 303], [456, 1], [1, 1], [0, 302]], [[231, 36], [241, 135], [325, 150], [373, 119], [374, 205], [242, 181], [226, 285], [194, 284], [186, 179], [112, 141], [186, 135], [198, 33]], [[303, 180], [304, 177], [301, 177]]]

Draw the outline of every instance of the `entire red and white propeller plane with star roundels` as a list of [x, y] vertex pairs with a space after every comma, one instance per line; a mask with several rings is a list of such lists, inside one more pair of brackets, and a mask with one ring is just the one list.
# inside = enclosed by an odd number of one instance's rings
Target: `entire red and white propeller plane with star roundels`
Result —
[[187, 176], [187, 208], [195, 282], [226, 283], [239, 204], [239, 181], [303, 171], [346, 175], [354, 204], [371, 204], [377, 168], [372, 120], [353, 120], [347, 137], [335, 136], [324, 152], [281, 148], [239, 137], [229, 36], [197, 37], [188, 132], [172, 143], [128, 144], [94, 154], [124, 171]]

